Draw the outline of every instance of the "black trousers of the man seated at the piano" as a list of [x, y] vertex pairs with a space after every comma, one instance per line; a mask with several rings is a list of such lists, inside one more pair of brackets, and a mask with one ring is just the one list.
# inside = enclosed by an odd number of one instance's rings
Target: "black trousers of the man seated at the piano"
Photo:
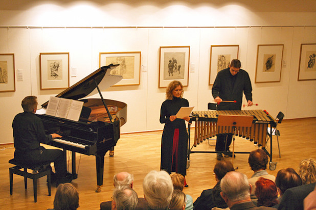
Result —
[[36, 150], [30, 152], [14, 152], [14, 158], [17, 161], [28, 163], [44, 163], [54, 162], [57, 178], [64, 177], [67, 173], [66, 160], [63, 156], [63, 151], [60, 149], [46, 149], [40, 146]]

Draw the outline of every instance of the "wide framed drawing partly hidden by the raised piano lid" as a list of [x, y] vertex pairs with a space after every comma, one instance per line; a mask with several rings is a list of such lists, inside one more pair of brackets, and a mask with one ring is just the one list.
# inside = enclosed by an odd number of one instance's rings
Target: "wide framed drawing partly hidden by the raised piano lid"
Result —
[[110, 73], [123, 76], [114, 86], [141, 84], [141, 52], [100, 52], [100, 67], [110, 64], [120, 64]]

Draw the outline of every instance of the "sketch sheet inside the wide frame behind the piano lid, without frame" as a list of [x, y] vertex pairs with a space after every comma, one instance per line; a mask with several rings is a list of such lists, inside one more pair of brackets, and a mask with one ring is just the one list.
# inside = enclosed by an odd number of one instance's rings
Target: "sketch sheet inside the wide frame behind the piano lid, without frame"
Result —
[[111, 74], [123, 76], [123, 79], [132, 79], [134, 78], [134, 56], [125, 56], [125, 57], [106, 57], [106, 65], [110, 64], [120, 64], [115, 69], [111, 70]]

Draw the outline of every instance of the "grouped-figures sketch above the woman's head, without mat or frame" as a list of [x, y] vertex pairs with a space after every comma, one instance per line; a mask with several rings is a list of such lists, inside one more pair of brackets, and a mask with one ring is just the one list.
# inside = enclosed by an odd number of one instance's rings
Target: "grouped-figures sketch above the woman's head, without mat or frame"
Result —
[[164, 52], [164, 80], [183, 80], [186, 52]]

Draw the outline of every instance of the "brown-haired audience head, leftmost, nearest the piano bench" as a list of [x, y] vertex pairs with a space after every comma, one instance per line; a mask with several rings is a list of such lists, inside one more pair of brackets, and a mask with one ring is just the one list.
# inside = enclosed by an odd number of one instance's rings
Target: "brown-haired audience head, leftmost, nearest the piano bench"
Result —
[[75, 210], [79, 207], [79, 194], [71, 183], [59, 184], [55, 199], [55, 210]]

